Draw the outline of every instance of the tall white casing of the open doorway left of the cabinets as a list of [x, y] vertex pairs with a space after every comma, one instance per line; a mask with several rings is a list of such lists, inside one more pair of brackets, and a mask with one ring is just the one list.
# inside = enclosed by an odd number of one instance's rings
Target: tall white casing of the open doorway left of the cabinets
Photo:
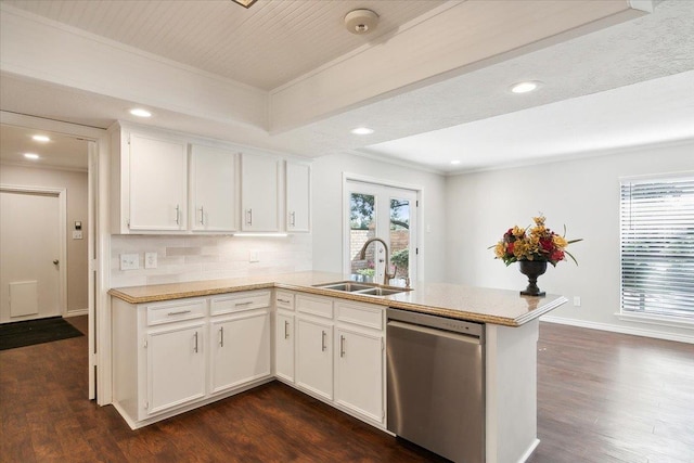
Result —
[[[111, 403], [111, 235], [110, 230], [110, 138], [104, 129], [0, 111], [0, 123], [36, 130], [46, 130], [85, 139], [90, 143], [89, 185], [89, 386], [87, 396], [97, 403]], [[92, 163], [93, 162], [93, 163]], [[92, 168], [95, 171], [91, 171]], [[65, 240], [66, 243], [66, 240]], [[66, 244], [65, 244], [66, 246]], [[67, 305], [65, 305], [67, 307]]]

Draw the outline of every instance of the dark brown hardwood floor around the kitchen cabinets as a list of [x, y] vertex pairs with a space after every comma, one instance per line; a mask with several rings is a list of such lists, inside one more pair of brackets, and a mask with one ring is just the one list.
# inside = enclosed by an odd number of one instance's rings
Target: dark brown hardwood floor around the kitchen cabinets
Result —
[[[694, 463], [694, 346], [541, 323], [538, 348], [529, 462]], [[87, 337], [0, 351], [0, 461], [442, 461], [277, 382], [133, 432], [87, 381]]]

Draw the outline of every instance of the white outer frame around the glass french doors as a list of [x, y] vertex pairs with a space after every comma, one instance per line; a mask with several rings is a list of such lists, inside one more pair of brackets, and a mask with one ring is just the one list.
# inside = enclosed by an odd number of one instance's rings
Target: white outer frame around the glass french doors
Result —
[[416, 253], [416, 280], [424, 280], [424, 260], [423, 260], [423, 256], [424, 256], [424, 252], [423, 252], [423, 240], [422, 240], [422, 232], [423, 232], [423, 228], [422, 228], [422, 223], [424, 223], [424, 221], [422, 220], [422, 217], [424, 217], [424, 202], [422, 201], [424, 197], [424, 188], [420, 187], [420, 185], [414, 185], [414, 184], [409, 184], [409, 183], [400, 183], [400, 182], [395, 182], [393, 180], [388, 180], [388, 179], [380, 179], [380, 178], [375, 178], [375, 177], [370, 177], [370, 176], [363, 176], [363, 175], [359, 175], [359, 173], [351, 173], [351, 172], [343, 172], [343, 190], [342, 190], [342, 195], [343, 195], [343, 249], [342, 249], [342, 269], [343, 269], [343, 273], [345, 275], [349, 275], [350, 272], [350, 262], [349, 259], [346, 257], [347, 256], [347, 250], [349, 249], [349, 233], [347, 233], [347, 230], [349, 228], [349, 197], [347, 195], [348, 192], [348, 188], [347, 188], [347, 182], [348, 181], [357, 181], [357, 182], [362, 182], [362, 183], [371, 183], [373, 185], [377, 185], [377, 187], [386, 187], [386, 188], [395, 188], [395, 189], [400, 189], [400, 190], [410, 190], [413, 191], [416, 194], [416, 202], [417, 205], [415, 207], [415, 232], [416, 232], [416, 236], [414, 240], [414, 247], [417, 249]]

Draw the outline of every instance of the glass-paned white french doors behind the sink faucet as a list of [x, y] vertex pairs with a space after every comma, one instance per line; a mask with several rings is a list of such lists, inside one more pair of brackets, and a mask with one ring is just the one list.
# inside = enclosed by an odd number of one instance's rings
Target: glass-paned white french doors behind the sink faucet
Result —
[[[395, 275], [389, 284], [415, 281], [417, 192], [357, 180], [347, 180], [346, 187], [346, 273], [352, 280], [383, 283], [387, 271]], [[362, 259], [360, 252], [371, 239], [383, 240], [388, 254], [374, 242]]]

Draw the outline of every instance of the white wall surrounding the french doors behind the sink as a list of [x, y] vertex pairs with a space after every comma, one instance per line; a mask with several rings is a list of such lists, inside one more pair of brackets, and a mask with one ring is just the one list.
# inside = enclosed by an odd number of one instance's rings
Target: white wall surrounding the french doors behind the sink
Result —
[[[343, 272], [343, 172], [417, 185], [423, 190], [419, 239], [423, 268], [420, 268], [419, 278], [442, 280], [445, 178], [350, 154], [319, 157], [312, 164], [313, 270]], [[427, 226], [430, 232], [424, 232]]]

